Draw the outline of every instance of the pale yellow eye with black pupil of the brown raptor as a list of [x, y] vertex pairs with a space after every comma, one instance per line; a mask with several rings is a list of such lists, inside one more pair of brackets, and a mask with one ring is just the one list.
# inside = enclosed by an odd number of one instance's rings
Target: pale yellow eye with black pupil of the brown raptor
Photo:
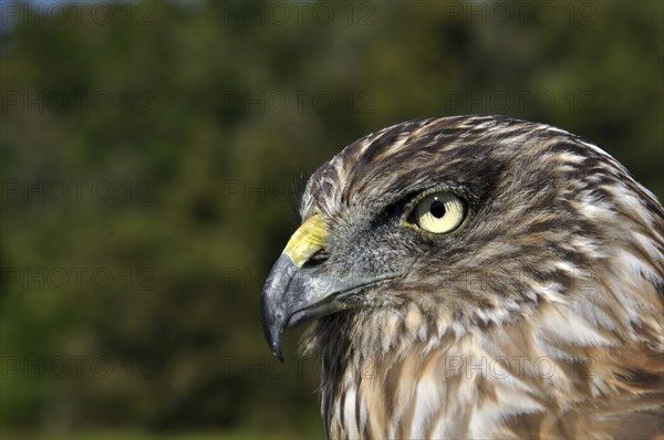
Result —
[[466, 218], [466, 202], [454, 192], [434, 192], [415, 206], [408, 222], [433, 233], [457, 229]]

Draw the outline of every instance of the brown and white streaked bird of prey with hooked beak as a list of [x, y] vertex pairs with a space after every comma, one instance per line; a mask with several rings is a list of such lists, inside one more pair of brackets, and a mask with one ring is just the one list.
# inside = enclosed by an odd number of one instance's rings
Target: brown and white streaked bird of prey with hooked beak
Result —
[[312, 322], [329, 438], [663, 436], [664, 209], [501, 116], [406, 122], [319, 168], [262, 292]]

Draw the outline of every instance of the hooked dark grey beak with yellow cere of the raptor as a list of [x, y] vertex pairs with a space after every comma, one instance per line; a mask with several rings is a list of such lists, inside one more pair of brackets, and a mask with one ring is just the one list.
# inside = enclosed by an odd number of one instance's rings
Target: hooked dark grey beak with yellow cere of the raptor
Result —
[[344, 300], [369, 284], [394, 277], [394, 274], [339, 276], [320, 265], [304, 268], [317, 252], [325, 249], [326, 234], [326, 226], [319, 214], [309, 218], [293, 233], [266, 280], [261, 302], [263, 333], [281, 362], [284, 329], [353, 307]]

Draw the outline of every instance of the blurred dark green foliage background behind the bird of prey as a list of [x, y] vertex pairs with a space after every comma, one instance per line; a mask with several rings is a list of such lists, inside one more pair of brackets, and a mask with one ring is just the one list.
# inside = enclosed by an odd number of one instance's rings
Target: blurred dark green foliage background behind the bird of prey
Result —
[[663, 4], [2, 2], [0, 433], [321, 437], [317, 360], [259, 312], [307, 177], [500, 113], [661, 198]]

